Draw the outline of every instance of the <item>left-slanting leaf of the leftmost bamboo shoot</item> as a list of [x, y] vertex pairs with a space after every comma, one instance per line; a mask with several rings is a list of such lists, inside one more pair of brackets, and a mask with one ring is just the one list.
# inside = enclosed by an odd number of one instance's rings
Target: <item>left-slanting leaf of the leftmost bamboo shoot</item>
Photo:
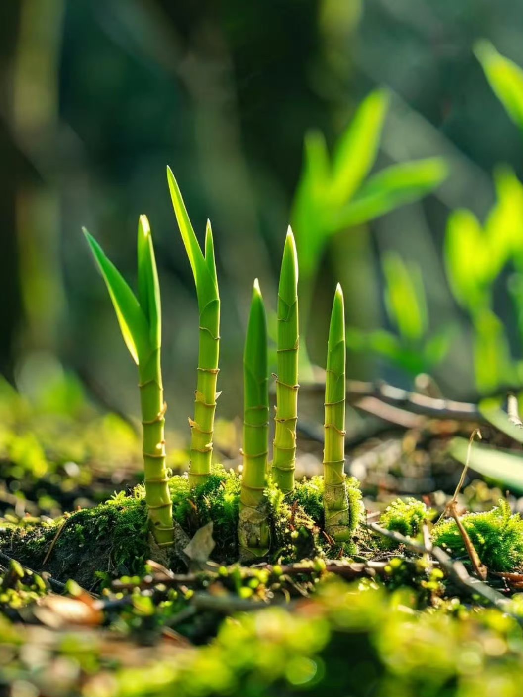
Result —
[[139, 358], [146, 355], [149, 346], [149, 325], [146, 316], [135, 294], [116, 266], [105, 256], [102, 247], [85, 228], [83, 231], [107, 285], [123, 340], [133, 360], [138, 364]]

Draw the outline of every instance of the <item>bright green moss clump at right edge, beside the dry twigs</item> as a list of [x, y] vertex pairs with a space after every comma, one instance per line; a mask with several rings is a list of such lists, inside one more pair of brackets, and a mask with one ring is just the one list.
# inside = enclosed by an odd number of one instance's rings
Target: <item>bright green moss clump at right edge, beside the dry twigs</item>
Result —
[[[461, 516], [480, 560], [492, 571], [515, 571], [523, 568], [523, 519], [512, 514], [503, 499], [499, 506], [483, 513]], [[453, 556], [467, 557], [463, 538], [454, 519], [444, 519], [432, 530], [437, 546], [449, 549]]]

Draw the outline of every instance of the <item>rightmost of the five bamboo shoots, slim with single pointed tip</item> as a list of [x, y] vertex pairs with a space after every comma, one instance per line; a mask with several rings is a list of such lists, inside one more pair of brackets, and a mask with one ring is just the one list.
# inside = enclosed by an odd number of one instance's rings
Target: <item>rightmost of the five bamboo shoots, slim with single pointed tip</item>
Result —
[[324, 510], [325, 529], [335, 542], [351, 539], [345, 483], [345, 312], [340, 284], [336, 288], [328, 332], [325, 385]]

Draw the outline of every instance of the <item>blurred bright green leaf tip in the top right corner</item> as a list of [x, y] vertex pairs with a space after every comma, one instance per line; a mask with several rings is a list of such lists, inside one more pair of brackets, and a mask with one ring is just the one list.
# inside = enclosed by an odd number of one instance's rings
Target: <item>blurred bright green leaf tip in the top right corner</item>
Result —
[[508, 116], [523, 128], [523, 70], [502, 56], [490, 41], [478, 41], [474, 53]]

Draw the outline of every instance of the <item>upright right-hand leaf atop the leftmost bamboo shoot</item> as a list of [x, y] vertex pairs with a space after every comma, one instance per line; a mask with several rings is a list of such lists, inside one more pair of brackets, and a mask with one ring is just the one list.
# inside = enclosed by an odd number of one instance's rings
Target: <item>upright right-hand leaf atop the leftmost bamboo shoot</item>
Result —
[[151, 227], [146, 215], [140, 215], [138, 222], [138, 298], [149, 321], [149, 339], [153, 348], [162, 342], [162, 308], [160, 303], [160, 284], [154, 256]]

